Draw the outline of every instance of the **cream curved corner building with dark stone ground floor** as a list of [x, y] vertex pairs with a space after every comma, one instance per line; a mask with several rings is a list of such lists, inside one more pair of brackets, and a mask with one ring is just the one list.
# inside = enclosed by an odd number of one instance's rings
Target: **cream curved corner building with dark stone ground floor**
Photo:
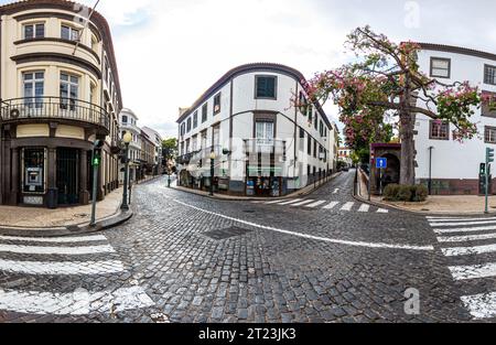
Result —
[[87, 204], [96, 139], [98, 198], [118, 187], [119, 75], [108, 23], [89, 12], [62, 0], [0, 7], [2, 205]]

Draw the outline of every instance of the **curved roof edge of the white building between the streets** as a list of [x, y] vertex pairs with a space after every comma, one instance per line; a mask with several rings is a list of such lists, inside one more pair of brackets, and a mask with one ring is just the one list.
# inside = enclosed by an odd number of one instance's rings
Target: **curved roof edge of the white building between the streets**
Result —
[[[305, 77], [303, 76], [303, 74], [292, 67], [285, 66], [285, 65], [281, 65], [281, 64], [274, 64], [274, 63], [252, 63], [252, 64], [246, 64], [246, 65], [241, 65], [238, 67], [235, 67], [233, 69], [230, 69], [229, 72], [227, 72], [224, 76], [220, 77], [220, 79], [218, 79], [214, 85], [212, 85], [190, 108], [186, 112], [184, 112], [183, 115], [181, 115], [181, 117], [177, 119], [177, 123], [181, 123], [184, 119], [186, 119], [192, 112], [193, 110], [200, 108], [208, 98], [211, 98], [212, 96], [214, 96], [222, 87], [224, 87], [231, 78], [241, 75], [241, 74], [246, 74], [246, 73], [250, 73], [250, 72], [260, 72], [260, 71], [266, 71], [266, 72], [282, 72], [285, 74], [289, 74], [290, 76], [292, 76], [293, 78], [295, 78], [296, 80], [301, 82], [301, 80], [305, 80]], [[324, 121], [326, 122], [327, 127], [332, 128], [333, 126], [331, 125], [327, 116], [325, 115], [324, 109], [322, 109], [322, 106], [320, 104], [314, 104], [315, 107], [317, 108], [319, 112], [321, 114], [322, 118], [324, 119]]]

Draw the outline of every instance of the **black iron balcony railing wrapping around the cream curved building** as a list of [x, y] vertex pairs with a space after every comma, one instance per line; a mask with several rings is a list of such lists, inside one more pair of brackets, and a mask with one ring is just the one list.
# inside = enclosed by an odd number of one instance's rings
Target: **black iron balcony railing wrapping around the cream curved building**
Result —
[[61, 97], [24, 97], [1, 101], [2, 121], [23, 119], [67, 119], [83, 121], [110, 130], [108, 112], [94, 104]]

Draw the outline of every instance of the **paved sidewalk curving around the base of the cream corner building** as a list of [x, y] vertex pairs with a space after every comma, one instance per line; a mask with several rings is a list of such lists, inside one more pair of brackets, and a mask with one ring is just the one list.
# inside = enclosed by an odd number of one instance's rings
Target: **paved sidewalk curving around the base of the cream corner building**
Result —
[[[122, 188], [118, 188], [97, 204], [97, 220], [119, 212]], [[0, 228], [57, 228], [89, 224], [91, 205], [57, 209], [0, 206]]]

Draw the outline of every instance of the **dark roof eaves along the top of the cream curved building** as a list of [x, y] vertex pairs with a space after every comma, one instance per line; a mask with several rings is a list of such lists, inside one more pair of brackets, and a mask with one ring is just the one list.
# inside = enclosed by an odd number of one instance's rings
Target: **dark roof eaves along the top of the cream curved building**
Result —
[[[0, 6], [0, 15], [13, 14], [17, 12], [28, 10], [43, 10], [43, 9], [56, 9], [78, 13], [77, 6], [83, 4], [66, 0], [24, 0]], [[114, 72], [112, 74], [118, 90], [117, 97], [119, 99], [120, 106], [123, 107], [122, 94], [120, 89], [119, 69], [117, 68], [116, 53], [114, 50], [114, 42], [110, 32], [110, 26], [108, 25], [108, 22], [104, 18], [104, 15], [101, 15], [98, 11], [95, 11], [93, 13], [91, 23], [94, 23], [101, 31], [100, 34], [103, 36], [104, 45], [109, 57], [109, 63]], [[101, 63], [104, 64], [104, 62]]]

